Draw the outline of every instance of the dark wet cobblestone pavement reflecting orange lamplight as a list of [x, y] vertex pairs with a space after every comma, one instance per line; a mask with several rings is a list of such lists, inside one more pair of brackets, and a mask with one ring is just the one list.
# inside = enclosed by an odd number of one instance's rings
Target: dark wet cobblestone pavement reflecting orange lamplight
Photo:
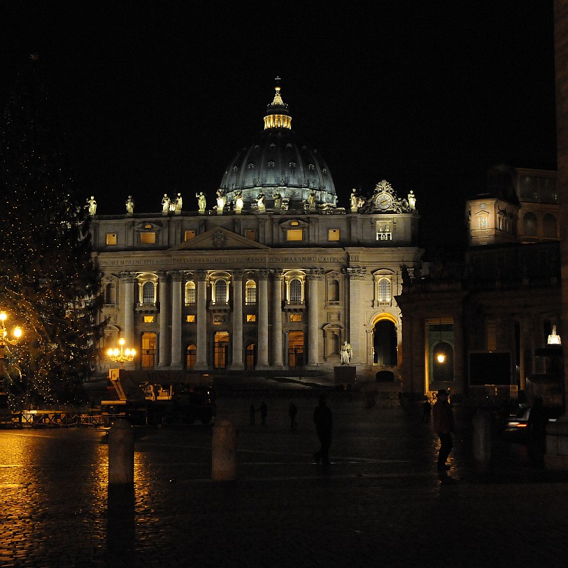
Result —
[[[238, 478], [211, 481], [211, 428], [136, 429], [134, 490], [107, 485], [104, 432], [0, 431], [0, 565], [17, 567], [560, 567], [568, 477], [496, 441], [491, 471], [460, 425], [450, 478], [417, 409], [332, 395], [331, 471], [311, 456], [315, 398], [219, 402], [239, 428]], [[257, 417], [258, 422], [258, 417]]]

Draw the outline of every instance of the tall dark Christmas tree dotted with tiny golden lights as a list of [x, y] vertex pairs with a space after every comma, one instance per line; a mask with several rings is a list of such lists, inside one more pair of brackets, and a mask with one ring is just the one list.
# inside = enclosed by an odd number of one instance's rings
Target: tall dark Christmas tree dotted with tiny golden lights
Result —
[[0, 310], [24, 331], [4, 376], [13, 406], [80, 402], [99, 337], [88, 216], [45, 83], [31, 59], [0, 125]]

